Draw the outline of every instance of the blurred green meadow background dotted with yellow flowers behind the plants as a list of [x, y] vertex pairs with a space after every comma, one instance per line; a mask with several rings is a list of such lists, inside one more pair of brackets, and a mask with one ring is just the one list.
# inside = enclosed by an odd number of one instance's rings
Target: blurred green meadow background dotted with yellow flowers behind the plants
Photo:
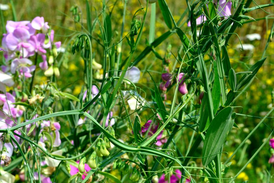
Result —
[[[113, 33], [113, 43], [118, 43], [121, 36], [121, 27], [122, 27], [122, 16], [124, 9], [124, 1], [123, 0], [105, 0], [107, 6], [102, 7], [102, 0], [92, 0], [92, 18], [93, 20], [98, 17], [100, 22], [103, 21], [102, 14], [100, 11], [105, 11], [111, 17], [111, 26]], [[182, 0], [166, 0], [175, 20], [179, 20], [181, 14], [186, 9], [185, 1]], [[145, 0], [140, 0], [143, 6], [145, 6]], [[270, 0], [260, 0], [257, 3], [260, 4], [268, 4]], [[2, 0], [1, 4], [9, 5], [9, 10], [3, 11], [5, 21], [13, 20], [12, 11], [10, 6], [10, 1]], [[71, 45], [73, 43], [72, 38], [80, 32], [87, 32], [86, 26], [86, 9], [85, 2], [82, 0], [58, 0], [58, 1], [48, 1], [48, 0], [20, 0], [14, 1], [17, 19], [18, 21], [22, 20], [32, 20], [36, 16], [43, 16], [45, 21], [49, 22], [49, 25], [55, 30], [55, 41], [61, 41], [62, 47], [66, 49], [66, 52], [59, 55], [60, 62], [60, 73], [61, 76], [58, 78], [58, 85], [62, 87], [66, 92], [70, 92], [75, 96], [79, 95], [81, 92], [82, 86], [84, 85], [84, 77], [83, 77], [83, 69], [84, 62], [80, 55], [75, 54], [72, 55]], [[80, 23], [75, 22], [75, 16], [72, 15], [70, 11], [71, 7], [77, 6], [79, 11]], [[252, 5], [253, 6], [253, 5]], [[160, 9], [157, 8], [156, 5], [156, 25], [155, 25], [155, 38], [160, 37], [163, 33], [168, 31], [167, 26], [163, 21], [163, 17], [160, 13]], [[130, 31], [130, 25], [132, 16], [134, 13], [141, 8], [141, 5], [138, 0], [129, 0], [126, 5], [126, 16], [125, 16], [125, 27], [123, 35], [127, 34]], [[273, 13], [273, 6], [265, 9], [266, 12], [258, 9], [257, 11], [252, 11], [248, 13], [248, 16], [251, 16], [255, 19], [260, 19], [265, 16], [268, 19], [262, 19], [258, 21], [250, 21], [250, 23], [243, 24], [243, 27], [239, 30], [236, 30], [239, 38], [241, 39], [242, 44], [252, 44], [254, 46], [253, 50], [242, 51], [237, 48], [237, 45], [240, 44], [240, 41], [237, 35], [233, 35], [230, 39], [229, 46], [227, 48], [228, 54], [230, 56], [230, 62], [232, 68], [235, 72], [243, 71], [246, 68], [249, 68], [250, 65], [253, 65], [257, 62], [264, 50], [266, 40], [269, 36], [270, 28], [273, 21], [273, 14], [269, 14], [267, 12]], [[232, 10], [233, 11], [233, 10]], [[135, 51], [134, 57], [136, 58], [147, 46], [147, 39], [149, 35], [149, 17], [146, 19], [146, 24], [144, 27], [144, 32], [142, 34], [142, 40]], [[186, 22], [187, 16], [184, 17], [184, 22]], [[93, 33], [93, 44], [92, 49], [95, 53], [95, 60], [98, 63], [101, 63], [103, 60], [103, 49], [100, 44], [102, 40], [100, 39], [100, 29], [99, 23], [94, 27], [95, 31]], [[181, 28], [185, 30], [187, 33], [190, 28], [187, 27], [187, 23]], [[0, 30], [2, 34], [2, 29]], [[246, 38], [247, 34], [258, 33], [261, 36], [261, 40], [248, 40]], [[177, 35], [171, 35], [167, 40], [163, 41], [155, 51], [161, 56], [164, 57], [167, 51], [168, 45], [171, 45], [171, 52], [174, 55], [177, 55], [177, 52], [180, 48], [181, 41], [178, 39]], [[247, 114], [251, 116], [264, 116], [269, 108], [273, 105], [273, 85], [274, 85], [274, 56], [273, 56], [274, 42], [269, 44], [269, 47], [266, 52], [266, 56], [268, 57], [265, 61], [262, 68], [259, 70], [257, 77], [254, 79], [254, 82], [247, 90], [247, 95], [241, 95], [240, 100], [237, 100], [237, 103], [234, 106], [242, 106], [236, 108], [238, 113]], [[122, 60], [125, 60], [129, 54], [130, 48], [126, 41], [123, 41], [121, 54]], [[207, 55], [205, 55], [206, 57]], [[175, 62], [174, 56], [171, 55], [169, 58], [169, 62], [171, 65]], [[102, 64], [102, 63], [101, 63]], [[141, 79], [139, 81], [139, 86], [143, 87], [147, 93], [149, 92], [149, 88], [147, 86], [153, 86], [149, 79], [149, 75], [145, 70], [149, 70], [152, 74], [154, 80], [157, 83], [160, 83], [161, 73], [162, 73], [162, 61], [151, 52], [147, 55], [138, 65], [141, 70]], [[97, 74], [102, 74], [102, 71]], [[46, 77], [43, 76], [43, 72], [38, 72], [36, 79], [37, 84], [42, 84], [46, 81]], [[170, 92], [171, 93], [171, 92]], [[167, 95], [167, 102], [171, 100], [173, 96]], [[171, 101], [170, 101], [171, 103]], [[114, 111], [115, 112], [115, 111]], [[114, 114], [115, 115], [115, 114]], [[273, 114], [272, 114], [273, 116]], [[224, 147], [224, 150], [229, 150], [230, 154], [237, 148], [237, 145], [241, 143], [241, 140], [245, 138], [246, 135], [253, 129], [253, 127], [258, 124], [260, 118], [246, 117], [246, 116], [238, 116], [235, 119], [235, 122], [240, 127], [240, 129], [234, 128], [232, 133], [234, 135], [229, 135], [227, 139], [227, 147]], [[255, 135], [252, 135], [249, 143], [243, 148], [242, 151], [237, 153], [232, 159], [232, 167], [230, 168], [230, 172], [228, 175], [234, 175], [245, 163], [246, 161], [254, 154], [254, 152], [258, 149], [258, 147], [262, 144], [263, 140], [266, 138], [266, 134], [269, 134], [270, 129], [273, 128], [273, 119], [266, 119], [265, 124], [261, 125], [259, 129], [256, 131]], [[267, 132], [267, 133], [266, 133]], [[182, 135], [181, 142], [188, 145], [188, 140], [191, 136], [189, 131], [185, 131], [184, 135]], [[180, 141], [179, 141], [180, 142]], [[184, 146], [182, 146], [184, 147]], [[242, 180], [250, 180], [250, 182], [261, 182], [260, 178], [263, 178], [262, 175], [266, 174], [266, 169], [270, 166], [268, 164], [268, 159], [270, 157], [269, 146], [265, 146], [263, 150], [247, 167], [247, 169], [240, 174], [236, 182], [241, 182]], [[201, 149], [200, 149], [201, 150]], [[182, 149], [182, 152], [185, 150]], [[201, 165], [201, 160], [197, 159], [196, 163]], [[237, 181], [238, 180], [238, 181]], [[258, 181], [253, 181], [258, 180]]]

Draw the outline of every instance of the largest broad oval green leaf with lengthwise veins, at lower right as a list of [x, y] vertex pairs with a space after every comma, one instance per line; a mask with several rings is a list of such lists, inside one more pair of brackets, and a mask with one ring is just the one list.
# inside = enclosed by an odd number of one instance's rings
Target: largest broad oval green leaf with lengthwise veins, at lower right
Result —
[[220, 152], [227, 135], [233, 126], [231, 121], [232, 107], [220, 111], [211, 121], [204, 140], [202, 163], [207, 166]]

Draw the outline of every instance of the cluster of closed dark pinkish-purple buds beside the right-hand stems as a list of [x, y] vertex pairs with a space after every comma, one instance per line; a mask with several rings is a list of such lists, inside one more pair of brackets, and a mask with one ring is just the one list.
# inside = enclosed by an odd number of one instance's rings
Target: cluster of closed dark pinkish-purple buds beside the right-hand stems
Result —
[[[160, 83], [160, 89], [163, 91], [166, 91], [167, 88], [169, 88], [174, 82], [176, 82], [175, 75], [171, 73], [163, 73], [162, 79], [163, 81], [166, 82], [165, 84], [163, 82]], [[181, 72], [179, 76], [177, 77], [178, 84], [179, 84], [178, 91], [182, 95], [185, 95], [188, 93], [187, 83], [185, 82], [185, 79], [186, 79], [186, 74], [184, 72]]]

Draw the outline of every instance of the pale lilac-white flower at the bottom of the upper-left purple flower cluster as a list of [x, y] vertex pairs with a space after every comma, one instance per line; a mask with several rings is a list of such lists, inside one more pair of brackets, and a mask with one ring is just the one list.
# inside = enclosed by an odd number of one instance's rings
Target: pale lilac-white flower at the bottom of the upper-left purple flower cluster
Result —
[[11, 63], [10, 71], [12, 74], [14, 74], [16, 70], [18, 70], [21, 76], [24, 75], [26, 78], [29, 78], [32, 76], [30, 72], [33, 72], [35, 68], [35, 65], [32, 65], [32, 62], [29, 59], [16, 58]]

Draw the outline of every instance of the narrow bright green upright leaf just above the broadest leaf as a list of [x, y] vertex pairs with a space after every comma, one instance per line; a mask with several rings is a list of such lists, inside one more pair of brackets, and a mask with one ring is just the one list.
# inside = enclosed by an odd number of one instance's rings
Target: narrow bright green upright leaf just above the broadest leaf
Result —
[[220, 105], [220, 97], [221, 97], [221, 90], [220, 90], [220, 80], [218, 75], [218, 69], [217, 69], [217, 62], [213, 60], [213, 69], [214, 69], [214, 84], [212, 89], [212, 98], [213, 100], [213, 112], [214, 115], [216, 114], [219, 105]]

